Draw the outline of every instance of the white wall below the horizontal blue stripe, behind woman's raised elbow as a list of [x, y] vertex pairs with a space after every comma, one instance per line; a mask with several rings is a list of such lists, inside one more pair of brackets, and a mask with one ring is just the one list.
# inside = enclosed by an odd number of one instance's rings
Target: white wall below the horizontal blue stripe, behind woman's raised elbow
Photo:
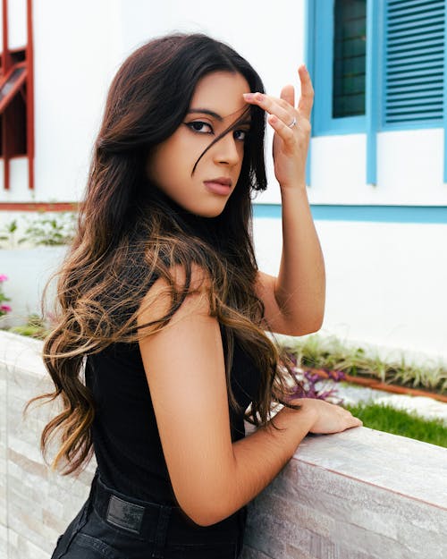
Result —
[[[325, 255], [323, 332], [447, 359], [447, 224], [316, 221]], [[281, 221], [258, 218], [259, 267], [275, 275]]]

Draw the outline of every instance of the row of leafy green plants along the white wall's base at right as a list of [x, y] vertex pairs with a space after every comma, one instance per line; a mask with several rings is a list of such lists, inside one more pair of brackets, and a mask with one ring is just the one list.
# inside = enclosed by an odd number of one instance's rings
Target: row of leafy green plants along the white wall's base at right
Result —
[[447, 366], [410, 364], [403, 354], [400, 360], [384, 360], [361, 347], [349, 347], [334, 337], [309, 335], [286, 344], [286, 349], [301, 368], [342, 371], [352, 377], [373, 377], [382, 382], [447, 394]]

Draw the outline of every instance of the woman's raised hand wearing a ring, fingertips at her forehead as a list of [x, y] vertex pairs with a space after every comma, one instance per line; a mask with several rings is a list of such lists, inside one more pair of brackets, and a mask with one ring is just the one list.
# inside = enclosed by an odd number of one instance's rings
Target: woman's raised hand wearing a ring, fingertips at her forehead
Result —
[[306, 66], [298, 69], [301, 96], [295, 107], [295, 89], [285, 86], [281, 96], [246, 93], [247, 103], [257, 105], [268, 113], [267, 121], [274, 129], [274, 175], [282, 189], [306, 186], [306, 159], [310, 138], [310, 112], [314, 89]]

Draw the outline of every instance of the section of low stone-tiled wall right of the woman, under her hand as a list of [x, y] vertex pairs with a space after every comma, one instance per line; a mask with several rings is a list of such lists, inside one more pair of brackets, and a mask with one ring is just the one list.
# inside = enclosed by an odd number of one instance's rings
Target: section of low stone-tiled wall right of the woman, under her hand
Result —
[[445, 559], [447, 449], [369, 428], [307, 436], [249, 505], [243, 559]]

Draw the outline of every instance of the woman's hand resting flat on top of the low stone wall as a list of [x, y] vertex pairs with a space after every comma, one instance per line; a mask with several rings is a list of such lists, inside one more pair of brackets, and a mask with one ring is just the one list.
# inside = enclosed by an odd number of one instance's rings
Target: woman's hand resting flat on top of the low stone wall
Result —
[[316, 398], [294, 398], [292, 403], [302, 406], [302, 410], [313, 414], [314, 421], [309, 433], [340, 433], [353, 427], [361, 427], [363, 422], [355, 418], [350, 411], [333, 403]]

